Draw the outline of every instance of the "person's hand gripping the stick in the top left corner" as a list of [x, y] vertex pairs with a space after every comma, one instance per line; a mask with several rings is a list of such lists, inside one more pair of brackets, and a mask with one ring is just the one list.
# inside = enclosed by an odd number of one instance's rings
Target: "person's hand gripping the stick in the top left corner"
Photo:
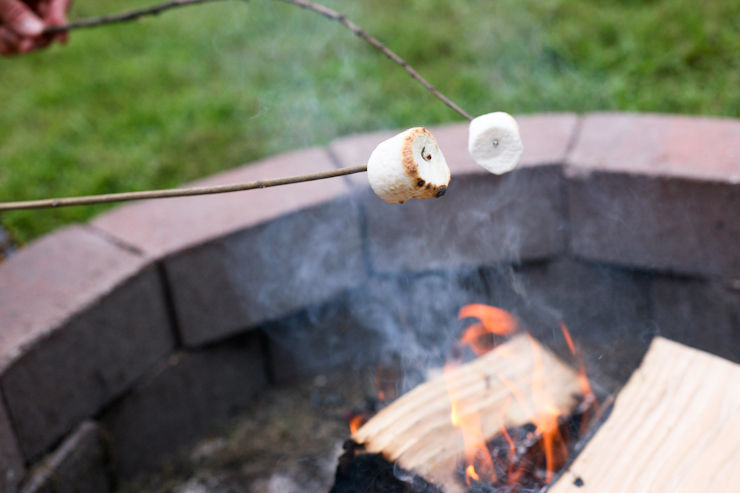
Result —
[[65, 43], [67, 33], [44, 34], [67, 23], [72, 0], [0, 0], [0, 54], [15, 55]]

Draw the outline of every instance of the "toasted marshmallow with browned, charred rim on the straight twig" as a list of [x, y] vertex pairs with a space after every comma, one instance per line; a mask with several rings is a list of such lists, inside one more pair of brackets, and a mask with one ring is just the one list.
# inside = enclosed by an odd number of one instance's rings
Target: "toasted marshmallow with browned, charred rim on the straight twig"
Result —
[[450, 168], [437, 141], [425, 128], [410, 128], [381, 142], [367, 162], [373, 191], [389, 204], [410, 198], [441, 197], [450, 184]]

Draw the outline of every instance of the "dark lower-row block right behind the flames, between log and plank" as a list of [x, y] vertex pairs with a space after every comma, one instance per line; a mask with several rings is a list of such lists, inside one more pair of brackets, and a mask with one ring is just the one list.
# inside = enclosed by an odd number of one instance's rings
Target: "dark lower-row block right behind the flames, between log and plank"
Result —
[[522, 314], [533, 334], [572, 361], [563, 322], [589, 376], [617, 390], [642, 361], [656, 329], [649, 274], [562, 259], [521, 269]]

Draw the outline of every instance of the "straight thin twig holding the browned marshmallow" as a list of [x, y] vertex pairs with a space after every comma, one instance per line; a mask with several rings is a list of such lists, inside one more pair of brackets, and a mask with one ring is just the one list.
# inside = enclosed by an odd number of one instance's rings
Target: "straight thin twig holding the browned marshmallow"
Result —
[[88, 195], [86, 197], [69, 197], [63, 199], [28, 200], [24, 202], [0, 203], [0, 212], [14, 211], [20, 209], [46, 209], [50, 207], [65, 207], [70, 205], [92, 205], [106, 204], [109, 202], [126, 202], [142, 199], [163, 199], [169, 197], [188, 197], [191, 195], [210, 195], [215, 193], [240, 192], [243, 190], [254, 190], [256, 188], [269, 188], [291, 183], [302, 183], [306, 181], [324, 180], [337, 176], [351, 175], [367, 171], [367, 164], [353, 166], [351, 168], [340, 168], [309, 175], [289, 176], [287, 178], [275, 178], [271, 180], [257, 180], [247, 183], [235, 183], [233, 185], [218, 185], [214, 187], [175, 188], [171, 190], [150, 190], [147, 192], [125, 192], [110, 193], [106, 195]]

